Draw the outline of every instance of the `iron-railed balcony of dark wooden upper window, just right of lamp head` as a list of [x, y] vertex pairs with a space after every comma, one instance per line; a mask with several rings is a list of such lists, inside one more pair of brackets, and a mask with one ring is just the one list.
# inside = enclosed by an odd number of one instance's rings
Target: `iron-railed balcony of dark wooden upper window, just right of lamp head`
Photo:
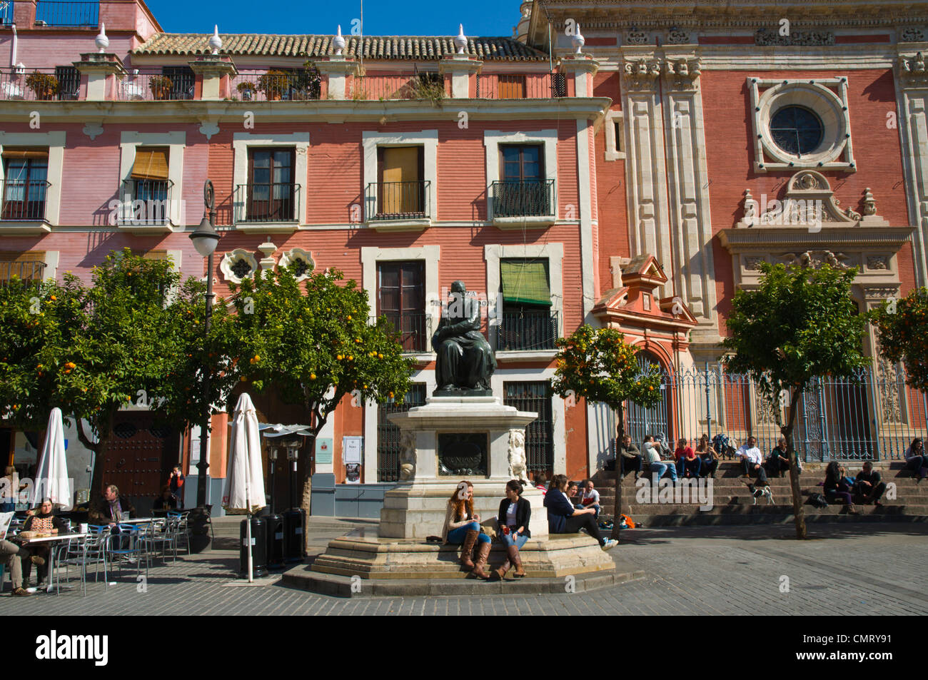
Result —
[[236, 186], [236, 228], [255, 234], [293, 233], [300, 225], [301, 188], [289, 182]]

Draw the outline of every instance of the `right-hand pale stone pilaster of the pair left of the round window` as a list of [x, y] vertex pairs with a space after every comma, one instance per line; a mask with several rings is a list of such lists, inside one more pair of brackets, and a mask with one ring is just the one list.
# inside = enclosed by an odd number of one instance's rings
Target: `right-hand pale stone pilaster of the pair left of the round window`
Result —
[[683, 302], [699, 326], [696, 344], [721, 341], [715, 314], [715, 267], [712, 258], [712, 218], [709, 173], [702, 122], [700, 61], [693, 52], [665, 53], [664, 129], [667, 132], [667, 184], [670, 231], [674, 235], [672, 276]]

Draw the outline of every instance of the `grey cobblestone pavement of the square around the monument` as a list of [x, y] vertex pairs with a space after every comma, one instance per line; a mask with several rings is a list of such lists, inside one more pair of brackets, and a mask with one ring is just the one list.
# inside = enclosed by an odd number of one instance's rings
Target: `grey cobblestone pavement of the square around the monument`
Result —
[[[311, 529], [318, 552], [334, 528]], [[61, 595], [0, 597], [0, 615], [300, 615], [300, 614], [926, 614], [928, 595], [915, 576], [928, 563], [928, 526], [818, 525], [813, 540], [793, 540], [791, 526], [682, 527], [625, 532], [613, 550], [644, 580], [607, 590], [537, 597], [316, 596], [279, 584], [229, 585], [238, 566], [236, 539], [176, 564], [153, 567], [145, 592], [135, 571], [116, 585], [88, 584]], [[789, 579], [788, 592], [781, 592]], [[6, 584], [8, 591], [9, 585]], [[561, 605], [560, 607], [558, 605]]]

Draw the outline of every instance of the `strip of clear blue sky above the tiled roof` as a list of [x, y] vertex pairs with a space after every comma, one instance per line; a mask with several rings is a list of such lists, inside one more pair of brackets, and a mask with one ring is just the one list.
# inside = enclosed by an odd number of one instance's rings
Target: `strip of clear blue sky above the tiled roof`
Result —
[[[342, 33], [360, 17], [361, 0], [329, 2], [253, 2], [253, 0], [147, 0], [166, 32]], [[519, 22], [521, 0], [364, 0], [367, 35], [456, 35], [464, 24], [468, 35], [512, 34]]]

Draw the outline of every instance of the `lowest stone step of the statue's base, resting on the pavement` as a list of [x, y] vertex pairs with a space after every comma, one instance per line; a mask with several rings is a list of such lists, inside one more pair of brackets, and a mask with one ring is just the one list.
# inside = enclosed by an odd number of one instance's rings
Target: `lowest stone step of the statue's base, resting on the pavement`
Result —
[[349, 576], [312, 571], [301, 564], [285, 572], [281, 583], [318, 595], [334, 597], [436, 597], [547, 595], [588, 593], [629, 581], [643, 579], [645, 572], [630, 566], [613, 571], [594, 571], [559, 578], [513, 579], [512, 572], [503, 581], [481, 579], [370, 579], [359, 581]]

